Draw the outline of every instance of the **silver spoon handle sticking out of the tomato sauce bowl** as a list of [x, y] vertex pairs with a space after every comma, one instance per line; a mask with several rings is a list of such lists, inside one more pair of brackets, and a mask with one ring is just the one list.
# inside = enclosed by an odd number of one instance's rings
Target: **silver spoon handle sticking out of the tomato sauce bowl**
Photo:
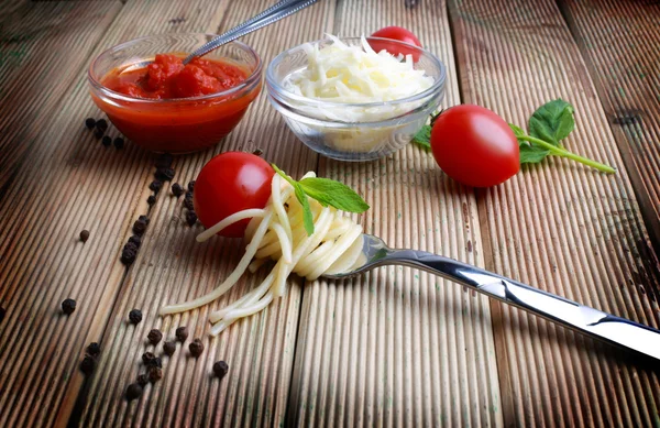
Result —
[[289, 17], [310, 4], [316, 3], [318, 0], [283, 0], [271, 8], [264, 10], [260, 14], [251, 18], [250, 20], [243, 22], [242, 24], [234, 26], [228, 32], [217, 36], [212, 41], [204, 44], [195, 52], [184, 59], [184, 64], [188, 64], [193, 58], [198, 56], [204, 56], [215, 48], [234, 41], [239, 37], [244, 36], [248, 33], [252, 33], [255, 30], [262, 29], [266, 25], [271, 25], [274, 22], [277, 22], [286, 17]]

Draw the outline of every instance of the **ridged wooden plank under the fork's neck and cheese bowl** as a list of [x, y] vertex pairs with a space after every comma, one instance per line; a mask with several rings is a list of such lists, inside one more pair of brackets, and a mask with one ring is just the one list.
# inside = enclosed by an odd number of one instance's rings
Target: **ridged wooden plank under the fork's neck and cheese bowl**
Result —
[[[460, 102], [443, 2], [340, 4], [336, 34], [393, 24], [416, 33], [447, 65], [443, 106]], [[443, 176], [430, 153], [409, 145], [372, 163], [322, 160], [319, 173], [365, 197], [372, 208], [360, 221], [391, 245], [483, 264], [474, 194]], [[403, 267], [308, 283], [302, 297], [290, 425], [502, 425], [485, 297]]]

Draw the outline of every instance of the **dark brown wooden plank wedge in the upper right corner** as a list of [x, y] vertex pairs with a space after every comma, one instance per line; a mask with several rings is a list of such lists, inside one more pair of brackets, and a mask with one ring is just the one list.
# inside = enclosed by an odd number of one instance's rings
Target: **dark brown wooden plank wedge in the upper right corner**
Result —
[[660, 3], [559, 2], [660, 251]]

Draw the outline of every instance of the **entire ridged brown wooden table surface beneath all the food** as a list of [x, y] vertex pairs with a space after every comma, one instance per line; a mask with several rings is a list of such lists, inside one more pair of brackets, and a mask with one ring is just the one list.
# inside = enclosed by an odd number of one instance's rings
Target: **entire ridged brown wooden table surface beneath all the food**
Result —
[[[285, 297], [206, 336], [208, 307], [165, 303], [216, 287], [241, 245], [195, 242], [177, 200], [148, 209], [154, 155], [106, 149], [86, 84], [103, 50], [141, 35], [220, 33], [272, 0], [0, 2], [0, 427], [31, 426], [660, 426], [658, 365], [420, 272], [343, 283], [292, 277]], [[457, 185], [415, 145], [346, 164], [304, 147], [262, 94], [215, 150], [176, 157], [194, 179], [215, 154], [261, 147], [294, 176], [317, 171], [371, 204], [365, 230], [395, 246], [466, 261], [658, 328], [660, 325], [660, 4], [617, 0], [321, 0], [245, 37], [268, 62], [324, 32], [410, 29], [448, 67], [443, 106], [485, 106], [525, 124], [541, 103], [575, 106], [566, 146], [618, 168], [552, 158], [504, 185]], [[110, 127], [109, 134], [118, 134]], [[135, 264], [120, 263], [140, 215]], [[90, 238], [82, 244], [82, 229]], [[78, 303], [65, 317], [66, 297]], [[140, 308], [144, 320], [130, 325]], [[180, 349], [140, 400], [122, 398], [153, 347]], [[101, 344], [95, 372], [78, 364]], [[158, 348], [160, 349], [160, 348]], [[215, 361], [229, 375], [211, 376]]]

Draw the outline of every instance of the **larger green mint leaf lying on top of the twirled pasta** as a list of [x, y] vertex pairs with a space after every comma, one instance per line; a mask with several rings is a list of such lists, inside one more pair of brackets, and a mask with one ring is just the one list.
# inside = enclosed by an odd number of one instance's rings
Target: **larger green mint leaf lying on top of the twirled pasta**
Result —
[[352, 188], [329, 178], [302, 178], [302, 190], [323, 206], [331, 206], [346, 212], [364, 212], [369, 205]]

